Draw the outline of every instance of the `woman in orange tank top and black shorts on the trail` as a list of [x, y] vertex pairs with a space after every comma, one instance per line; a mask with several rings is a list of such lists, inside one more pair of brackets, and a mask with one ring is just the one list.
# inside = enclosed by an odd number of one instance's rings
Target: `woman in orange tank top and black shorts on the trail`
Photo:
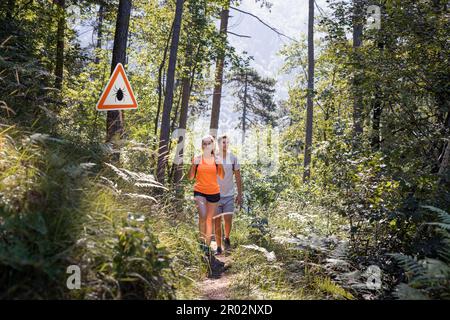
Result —
[[210, 252], [213, 217], [220, 200], [217, 176], [224, 178], [224, 170], [216, 156], [216, 142], [211, 135], [202, 138], [202, 155], [194, 157], [189, 170], [189, 179], [195, 179], [194, 199], [198, 209], [198, 223], [203, 248]]

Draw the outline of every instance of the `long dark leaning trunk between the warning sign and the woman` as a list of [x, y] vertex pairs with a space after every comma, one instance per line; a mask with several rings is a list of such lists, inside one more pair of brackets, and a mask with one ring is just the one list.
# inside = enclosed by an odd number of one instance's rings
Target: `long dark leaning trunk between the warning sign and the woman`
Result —
[[172, 42], [169, 54], [169, 66], [167, 69], [166, 96], [164, 97], [163, 114], [161, 119], [161, 131], [159, 134], [157, 177], [158, 181], [161, 183], [164, 183], [165, 180], [165, 170], [167, 166], [167, 156], [169, 151], [167, 146], [170, 134], [170, 112], [172, 110], [172, 103], [173, 103], [175, 67], [177, 64], [178, 42], [180, 39], [182, 15], [183, 15], [183, 0], [177, 0]]

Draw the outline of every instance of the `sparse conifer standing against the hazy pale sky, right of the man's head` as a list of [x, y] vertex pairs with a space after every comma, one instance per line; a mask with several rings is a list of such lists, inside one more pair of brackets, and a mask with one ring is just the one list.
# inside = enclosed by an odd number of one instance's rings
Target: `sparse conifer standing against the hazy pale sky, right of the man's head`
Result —
[[245, 141], [245, 133], [249, 124], [275, 125], [274, 79], [261, 77], [255, 69], [238, 67], [233, 70], [227, 82], [235, 88], [233, 95], [238, 98], [235, 110], [241, 112], [239, 120], [242, 143]]

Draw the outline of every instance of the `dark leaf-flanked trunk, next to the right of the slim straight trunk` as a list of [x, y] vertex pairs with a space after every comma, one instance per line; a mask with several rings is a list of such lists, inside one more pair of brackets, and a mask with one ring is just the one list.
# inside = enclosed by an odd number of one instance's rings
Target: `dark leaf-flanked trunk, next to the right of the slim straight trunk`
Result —
[[363, 99], [361, 92], [361, 59], [359, 48], [362, 45], [363, 32], [363, 1], [353, 1], [353, 54], [354, 54], [354, 75], [353, 75], [353, 135], [358, 138], [363, 133], [362, 110]]

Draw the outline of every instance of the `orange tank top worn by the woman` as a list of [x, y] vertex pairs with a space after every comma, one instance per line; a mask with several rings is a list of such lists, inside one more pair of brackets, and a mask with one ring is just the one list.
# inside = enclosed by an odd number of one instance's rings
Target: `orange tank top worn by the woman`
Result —
[[197, 166], [194, 191], [204, 194], [220, 193], [220, 187], [217, 183], [217, 166], [214, 158], [206, 160], [202, 156], [202, 161]]

